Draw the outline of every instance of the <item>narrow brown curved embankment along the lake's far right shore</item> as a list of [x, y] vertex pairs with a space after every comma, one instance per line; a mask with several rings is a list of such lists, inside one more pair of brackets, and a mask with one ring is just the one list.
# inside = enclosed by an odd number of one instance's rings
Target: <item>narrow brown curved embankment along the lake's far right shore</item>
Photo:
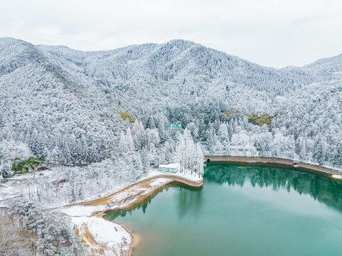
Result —
[[204, 156], [204, 160], [208, 161], [225, 161], [236, 164], [266, 164], [279, 167], [292, 167], [298, 171], [306, 171], [313, 174], [320, 174], [329, 178], [341, 180], [342, 173], [338, 170], [331, 169], [324, 166], [315, 164], [308, 164], [302, 161], [292, 159], [281, 159], [276, 157], [262, 157], [262, 156]]

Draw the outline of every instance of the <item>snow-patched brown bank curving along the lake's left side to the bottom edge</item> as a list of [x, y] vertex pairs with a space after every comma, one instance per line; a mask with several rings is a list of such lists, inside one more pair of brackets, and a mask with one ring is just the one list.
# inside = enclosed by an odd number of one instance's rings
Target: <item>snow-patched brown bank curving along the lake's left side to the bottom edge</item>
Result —
[[[132, 247], [138, 240], [137, 235], [133, 235], [122, 225], [99, 217], [103, 217], [107, 210], [131, 208], [170, 183], [178, 182], [196, 188], [203, 186], [203, 178], [194, 176], [191, 178], [176, 174], [157, 174], [127, 186], [112, 195], [93, 201], [71, 204], [63, 208], [61, 212], [72, 217], [76, 233], [85, 246], [90, 248], [93, 255], [131, 255]], [[104, 223], [107, 221], [108, 224]], [[112, 227], [107, 231], [109, 235], [106, 237], [112, 238], [112, 240], [106, 240], [103, 235], [101, 237], [99, 234], [99, 232], [103, 233], [99, 227], [109, 227], [110, 225]]]

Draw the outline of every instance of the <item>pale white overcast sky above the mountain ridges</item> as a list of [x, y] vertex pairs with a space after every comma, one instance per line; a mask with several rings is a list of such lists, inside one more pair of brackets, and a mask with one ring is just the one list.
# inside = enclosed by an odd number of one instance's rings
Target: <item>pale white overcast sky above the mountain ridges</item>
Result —
[[342, 53], [342, 0], [1, 0], [0, 37], [78, 50], [186, 39], [261, 65]]

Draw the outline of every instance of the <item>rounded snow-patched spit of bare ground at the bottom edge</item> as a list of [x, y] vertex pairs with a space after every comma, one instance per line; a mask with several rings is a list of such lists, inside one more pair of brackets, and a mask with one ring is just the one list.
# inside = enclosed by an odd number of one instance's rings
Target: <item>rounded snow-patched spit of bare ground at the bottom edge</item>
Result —
[[94, 255], [128, 255], [132, 236], [121, 225], [100, 217], [72, 217], [76, 233]]

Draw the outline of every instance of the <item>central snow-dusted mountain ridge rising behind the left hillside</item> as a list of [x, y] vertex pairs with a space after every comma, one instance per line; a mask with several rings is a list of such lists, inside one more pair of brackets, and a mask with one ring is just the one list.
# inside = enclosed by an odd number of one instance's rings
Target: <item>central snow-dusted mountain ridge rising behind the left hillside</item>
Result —
[[[85, 75], [133, 114], [144, 114], [146, 107], [163, 111], [165, 104], [160, 102], [165, 101], [177, 107], [232, 99], [230, 107], [241, 108], [240, 98], [252, 101], [249, 107], [253, 110], [262, 111], [267, 106], [257, 106], [260, 102], [268, 105], [275, 95], [316, 80], [311, 71], [262, 67], [183, 40], [90, 53], [63, 46], [39, 49], [63, 68]], [[255, 98], [259, 102], [253, 102]]]

